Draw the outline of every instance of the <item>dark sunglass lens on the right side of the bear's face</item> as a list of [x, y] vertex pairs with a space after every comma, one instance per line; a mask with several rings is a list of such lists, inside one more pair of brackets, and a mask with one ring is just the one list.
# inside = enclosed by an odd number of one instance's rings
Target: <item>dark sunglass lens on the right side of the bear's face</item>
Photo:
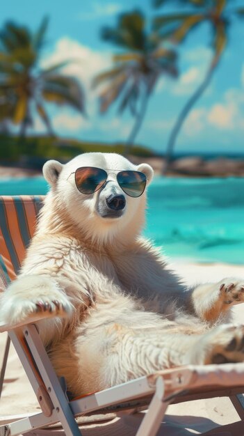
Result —
[[117, 173], [117, 182], [125, 194], [140, 197], [145, 190], [147, 178], [140, 171], [120, 171]]

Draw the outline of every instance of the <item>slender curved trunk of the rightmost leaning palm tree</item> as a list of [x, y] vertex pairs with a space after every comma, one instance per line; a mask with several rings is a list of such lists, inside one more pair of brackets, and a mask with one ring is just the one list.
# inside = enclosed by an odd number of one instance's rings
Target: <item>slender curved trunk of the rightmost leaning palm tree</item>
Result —
[[166, 148], [165, 152], [165, 163], [163, 165], [162, 173], [165, 174], [165, 172], [168, 170], [168, 167], [170, 165], [170, 160], [172, 158], [172, 153], [174, 150], [174, 144], [177, 140], [177, 136], [179, 134], [179, 131], [181, 130], [181, 127], [186, 120], [186, 117], [190, 113], [191, 109], [193, 108], [195, 102], [201, 97], [201, 95], [204, 93], [205, 89], [209, 86], [209, 83], [211, 81], [213, 72], [215, 68], [213, 68], [213, 64], [211, 64], [211, 68], [209, 68], [208, 72], [206, 73], [206, 76], [204, 77], [204, 81], [200, 86], [196, 89], [195, 93], [192, 95], [190, 100], [186, 102], [186, 105], [181, 110], [181, 113], [179, 114], [176, 123], [174, 124], [174, 127], [172, 129], [172, 132], [170, 134], [170, 139], [168, 141], [168, 146]]

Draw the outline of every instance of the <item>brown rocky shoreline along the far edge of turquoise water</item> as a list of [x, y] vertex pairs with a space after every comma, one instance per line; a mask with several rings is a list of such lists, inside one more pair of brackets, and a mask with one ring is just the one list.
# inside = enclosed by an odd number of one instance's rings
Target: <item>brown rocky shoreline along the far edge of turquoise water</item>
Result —
[[[130, 156], [131, 162], [140, 164], [147, 162], [156, 175], [161, 175], [165, 159], [163, 157]], [[31, 169], [17, 164], [3, 166], [0, 163], [0, 179], [31, 178], [42, 176], [41, 169]], [[244, 177], [244, 157], [223, 157], [214, 155], [191, 155], [176, 157], [170, 164], [165, 176], [170, 177]]]

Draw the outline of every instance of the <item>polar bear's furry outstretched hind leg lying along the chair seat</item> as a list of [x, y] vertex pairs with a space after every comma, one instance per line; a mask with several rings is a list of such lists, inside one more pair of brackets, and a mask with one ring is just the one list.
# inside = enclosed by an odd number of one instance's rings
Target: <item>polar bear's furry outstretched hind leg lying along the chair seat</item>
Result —
[[[76, 339], [75, 354], [76, 368], [67, 374], [68, 386], [76, 395], [87, 394], [174, 366], [244, 361], [244, 327], [219, 325], [189, 335], [170, 334], [167, 329], [133, 332], [116, 324], [101, 328], [99, 340], [94, 334], [85, 341]], [[62, 354], [56, 350], [55, 355], [54, 366], [60, 366]], [[66, 371], [65, 360], [60, 375]]]

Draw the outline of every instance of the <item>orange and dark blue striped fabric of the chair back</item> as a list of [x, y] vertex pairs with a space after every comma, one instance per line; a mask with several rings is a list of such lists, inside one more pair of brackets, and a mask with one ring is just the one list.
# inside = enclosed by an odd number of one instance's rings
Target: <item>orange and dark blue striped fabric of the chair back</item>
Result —
[[44, 196], [0, 196], [0, 291], [15, 279]]

